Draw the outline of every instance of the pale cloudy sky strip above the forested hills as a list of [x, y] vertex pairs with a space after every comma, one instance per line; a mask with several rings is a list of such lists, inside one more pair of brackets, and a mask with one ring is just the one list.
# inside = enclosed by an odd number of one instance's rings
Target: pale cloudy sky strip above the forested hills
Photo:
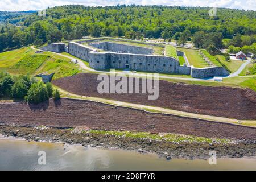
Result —
[[0, 11], [42, 10], [47, 7], [80, 4], [109, 6], [117, 4], [227, 7], [256, 10], [255, 0], [1, 0]]

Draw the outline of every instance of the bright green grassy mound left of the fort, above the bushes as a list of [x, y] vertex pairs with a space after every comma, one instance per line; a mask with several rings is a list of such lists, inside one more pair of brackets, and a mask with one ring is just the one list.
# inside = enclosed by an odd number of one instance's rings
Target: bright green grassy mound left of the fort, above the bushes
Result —
[[71, 63], [70, 59], [51, 52], [34, 53], [30, 47], [15, 49], [0, 53], [0, 71], [11, 74], [55, 72], [53, 80], [72, 76], [82, 72], [79, 65]]

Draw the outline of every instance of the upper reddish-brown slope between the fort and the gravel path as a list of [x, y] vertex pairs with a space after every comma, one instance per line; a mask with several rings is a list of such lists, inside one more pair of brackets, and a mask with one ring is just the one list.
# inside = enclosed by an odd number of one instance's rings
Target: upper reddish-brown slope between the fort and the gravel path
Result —
[[185, 85], [160, 80], [159, 98], [148, 100], [147, 94], [100, 94], [97, 91], [100, 82], [97, 81], [97, 76], [80, 73], [54, 80], [53, 84], [68, 92], [83, 96], [167, 107], [226, 118], [256, 119], [256, 92], [250, 89]]

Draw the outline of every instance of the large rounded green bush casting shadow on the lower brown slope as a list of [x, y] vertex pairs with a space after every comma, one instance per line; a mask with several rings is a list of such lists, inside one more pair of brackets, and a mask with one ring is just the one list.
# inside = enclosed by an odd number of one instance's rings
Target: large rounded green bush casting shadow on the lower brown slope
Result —
[[48, 100], [48, 92], [43, 82], [36, 82], [28, 90], [26, 102], [38, 104]]

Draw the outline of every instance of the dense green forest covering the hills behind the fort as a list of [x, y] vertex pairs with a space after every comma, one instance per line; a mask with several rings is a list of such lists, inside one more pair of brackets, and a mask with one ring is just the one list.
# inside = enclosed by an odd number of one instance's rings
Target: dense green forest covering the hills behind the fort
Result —
[[[192, 40], [210, 52], [216, 48], [248, 46], [256, 51], [256, 11], [218, 9], [210, 17], [207, 7], [67, 5], [48, 8], [46, 17], [18, 16], [0, 27], [0, 52], [34, 43], [81, 39], [83, 36], [125, 36], [127, 39]], [[223, 44], [223, 39], [228, 40]], [[255, 49], [253, 49], [255, 47]]]

